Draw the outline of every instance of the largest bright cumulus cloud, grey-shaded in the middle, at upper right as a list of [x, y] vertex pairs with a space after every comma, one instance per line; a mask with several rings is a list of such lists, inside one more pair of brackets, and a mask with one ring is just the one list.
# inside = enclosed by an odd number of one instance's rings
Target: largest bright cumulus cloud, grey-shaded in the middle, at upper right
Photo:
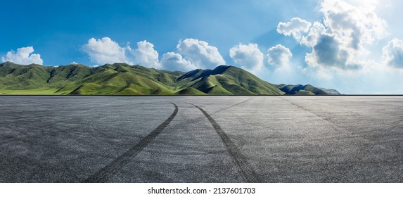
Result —
[[323, 22], [314, 22], [309, 30], [291, 28], [303, 21], [293, 18], [294, 21], [279, 23], [279, 27], [289, 27], [279, 32], [292, 35], [297, 42], [311, 48], [305, 56], [309, 67], [356, 70], [366, 65], [366, 46], [387, 34], [385, 20], [376, 15], [374, 7], [325, 0], [320, 11], [324, 14]]

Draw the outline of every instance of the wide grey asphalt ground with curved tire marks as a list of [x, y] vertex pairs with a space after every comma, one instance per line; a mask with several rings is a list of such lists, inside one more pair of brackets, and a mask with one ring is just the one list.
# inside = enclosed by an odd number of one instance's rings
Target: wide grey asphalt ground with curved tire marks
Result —
[[403, 96], [0, 96], [0, 182], [403, 182]]

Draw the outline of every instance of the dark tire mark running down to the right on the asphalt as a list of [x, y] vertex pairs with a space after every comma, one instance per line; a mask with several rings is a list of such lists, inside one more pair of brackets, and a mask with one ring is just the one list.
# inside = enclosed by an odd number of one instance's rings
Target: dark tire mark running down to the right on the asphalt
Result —
[[229, 139], [229, 136], [226, 135], [224, 130], [222, 130], [222, 128], [219, 127], [218, 123], [215, 122], [215, 120], [205, 110], [199, 108], [198, 106], [195, 107], [198, 108], [205, 115], [205, 117], [207, 117], [211, 125], [215, 128], [217, 134], [224, 142], [226, 151], [228, 151], [229, 155], [231, 155], [231, 158], [234, 160], [238, 172], [241, 173], [245, 181], [250, 183], [260, 182], [256, 172], [252, 170], [252, 168], [250, 167], [248, 160], [245, 158], [244, 155], [241, 154], [241, 151], [239, 151], [234, 142], [231, 141], [231, 139]]

